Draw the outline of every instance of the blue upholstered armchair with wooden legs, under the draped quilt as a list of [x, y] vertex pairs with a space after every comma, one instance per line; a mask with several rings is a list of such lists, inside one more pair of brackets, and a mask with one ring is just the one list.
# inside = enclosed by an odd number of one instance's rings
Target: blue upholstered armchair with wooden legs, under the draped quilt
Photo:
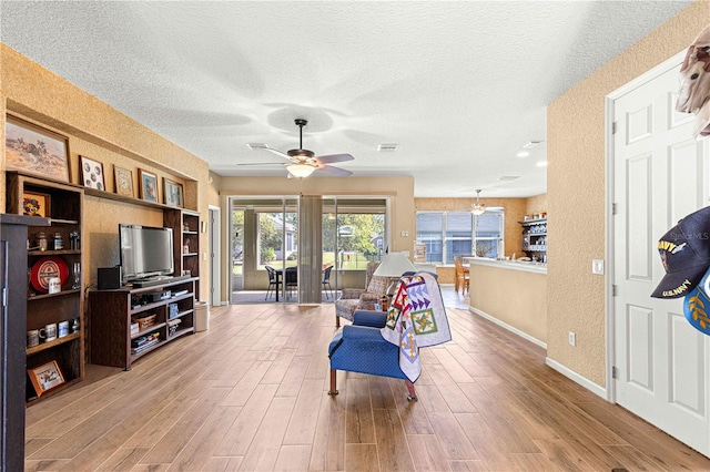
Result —
[[359, 310], [353, 315], [353, 324], [335, 334], [328, 346], [331, 358], [331, 390], [337, 394], [336, 371], [369, 373], [373, 376], [403, 379], [407, 386], [408, 400], [416, 400], [414, 383], [399, 368], [399, 348], [382, 337], [387, 314]]

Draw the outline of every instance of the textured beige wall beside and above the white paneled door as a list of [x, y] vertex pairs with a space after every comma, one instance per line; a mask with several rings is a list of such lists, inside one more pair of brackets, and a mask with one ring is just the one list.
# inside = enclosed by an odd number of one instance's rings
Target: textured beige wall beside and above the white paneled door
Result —
[[[549, 104], [548, 357], [605, 386], [605, 96], [688, 48], [710, 21], [698, 1]], [[568, 345], [577, 334], [577, 347]]]

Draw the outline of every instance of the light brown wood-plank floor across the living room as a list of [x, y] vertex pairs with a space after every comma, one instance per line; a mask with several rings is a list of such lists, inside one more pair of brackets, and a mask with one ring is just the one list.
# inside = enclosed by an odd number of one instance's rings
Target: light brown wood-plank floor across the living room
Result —
[[29, 408], [26, 470], [710, 470], [446, 298], [454, 340], [422, 350], [418, 402], [351, 372], [326, 393], [333, 305], [213, 308], [207, 331]]

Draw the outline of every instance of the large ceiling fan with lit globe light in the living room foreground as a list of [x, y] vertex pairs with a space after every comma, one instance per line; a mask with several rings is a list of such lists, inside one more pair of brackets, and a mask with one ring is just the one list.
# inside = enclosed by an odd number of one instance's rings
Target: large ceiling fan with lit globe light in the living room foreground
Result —
[[[257, 145], [250, 144], [248, 146], [253, 150], [261, 148], [261, 150], [270, 151], [290, 161], [291, 163], [283, 163], [283, 164], [277, 163], [280, 165], [286, 166], [286, 168], [288, 170], [290, 177], [294, 176], [294, 177], [304, 178], [313, 174], [314, 171], [323, 171], [323, 172], [327, 172], [328, 174], [334, 174], [339, 176], [348, 176], [353, 174], [351, 171], [346, 171], [344, 168], [329, 165], [335, 162], [353, 161], [355, 157], [353, 157], [352, 155], [329, 154], [325, 156], [316, 156], [313, 151], [304, 150], [303, 148], [303, 127], [306, 124], [308, 124], [308, 122], [307, 120], [296, 119], [295, 123], [296, 123], [296, 126], [298, 126], [298, 138], [300, 138], [297, 150], [291, 150], [284, 153], [282, 151], [268, 147], [268, 145], [266, 144], [257, 144]], [[250, 164], [239, 164], [239, 165], [265, 165], [265, 164], [267, 163], [264, 163], [264, 164], [250, 163]], [[268, 164], [273, 164], [273, 163], [268, 163]]]

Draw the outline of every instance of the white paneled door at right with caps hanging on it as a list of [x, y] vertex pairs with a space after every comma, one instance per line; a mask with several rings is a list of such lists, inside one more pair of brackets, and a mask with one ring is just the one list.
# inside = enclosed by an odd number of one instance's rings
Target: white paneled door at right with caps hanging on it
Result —
[[613, 102], [613, 297], [617, 402], [710, 454], [710, 340], [684, 319], [682, 298], [650, 294], [665, 275], [658, 239], [704, 206], [708, 145], [694, 116], [674, 111], [678, 66]]

